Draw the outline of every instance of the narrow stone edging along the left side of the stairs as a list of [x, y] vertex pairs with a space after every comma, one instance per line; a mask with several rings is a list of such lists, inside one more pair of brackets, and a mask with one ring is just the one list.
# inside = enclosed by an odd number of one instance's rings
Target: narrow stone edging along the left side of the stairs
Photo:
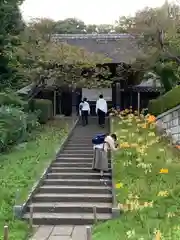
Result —
[[[55, 156], [57, 156], [57, 154], [60, 154], [67, 141], [69, 140], [69, 138], [71, 137], [72, 133], [73, 133], [73, 130], [74, 128], [76, 127], [77, 123], [79, 121], [79, 118], [74, 122], [72, 128], [70, 129], [68, 135], [64, 138], [64, 140], [62, 141], [61, 143], [61, 146], [58, 147], [58, 149], [55, 151]], [[43, 180], [46, 178], [48, 172], [49, 172], [49, 169], [52, 165], [52, 163], [54, 162], [55, 160], [53, 160], [49, 166], [44, 170], [43, 174], [41, 175], [40, 179], [34, 184], [34, 186], [32, 187], [26, 201], [22, 204], [22, 205], [14, 205], [13, 207], [13, 213], [14, 213], [14, 216], [18, 219], [21, 219], [23, 214], [25, 213], [26, 209], [27, 209], [27, 206], [29, 204], [29, 202], [31, 201], [33, 195], [36, 193], [36, 191], [38, 190], [38, 188], [40, 187], [40, 185], [42, 184]]]

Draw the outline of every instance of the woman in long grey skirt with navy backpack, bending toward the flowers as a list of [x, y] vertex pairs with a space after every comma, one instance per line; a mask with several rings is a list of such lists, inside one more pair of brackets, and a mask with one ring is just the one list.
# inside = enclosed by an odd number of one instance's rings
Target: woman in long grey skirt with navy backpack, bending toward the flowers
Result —
[[92, 139], [94, 145], [94, 158], [92, 163], [93, 170], [99, 170], [101, 177], [108, 171], [108, 151], [116, 151], [116, 134], [96, 135]]

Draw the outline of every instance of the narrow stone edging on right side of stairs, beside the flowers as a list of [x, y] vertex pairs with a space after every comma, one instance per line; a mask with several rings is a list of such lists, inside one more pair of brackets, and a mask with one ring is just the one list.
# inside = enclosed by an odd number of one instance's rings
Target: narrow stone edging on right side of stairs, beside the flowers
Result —
[[[112, 129], [112, 117], [109, 118], [110, 133], [113, 132]], [[114, 182], [114, 169], [113, 169], [113, 154], [111, 154], [111, 171], [112, 171], [112, 218], [118, 218], [120, 215], [120, 209], [118, 208], [116, 199], [116, 187]]]

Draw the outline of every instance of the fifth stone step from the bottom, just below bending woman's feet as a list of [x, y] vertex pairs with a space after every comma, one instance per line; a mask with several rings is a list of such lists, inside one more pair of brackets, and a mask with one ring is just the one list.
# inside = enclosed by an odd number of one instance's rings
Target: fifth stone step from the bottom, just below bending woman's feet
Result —
[[105, 182], [99, 179], [45, 179], [44, 184], [46, 185], [61, 185], [61, 186], [112, 186], [110, 179]]

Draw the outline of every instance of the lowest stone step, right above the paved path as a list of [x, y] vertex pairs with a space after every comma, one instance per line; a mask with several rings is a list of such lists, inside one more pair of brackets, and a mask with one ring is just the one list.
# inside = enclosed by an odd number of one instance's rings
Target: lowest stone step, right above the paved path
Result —
[[[29, 213], [24, 215], [28, 220]], [[106, 221], [111, 219], [112, 214], [98, 213], [97, 220]], [[94, 223], [93, 213], [34, 213], [34, 225], [89, 225]]]

